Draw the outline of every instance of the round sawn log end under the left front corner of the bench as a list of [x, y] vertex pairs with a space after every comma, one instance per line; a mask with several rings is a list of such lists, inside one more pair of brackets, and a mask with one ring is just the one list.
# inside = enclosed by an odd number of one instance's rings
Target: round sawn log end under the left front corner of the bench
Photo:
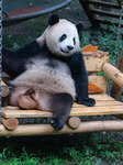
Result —
[[5, 118], [1, 117], [1, 122], [3, 123], [5, 129], [8, 129], [10, 131], [16, 129], [19, 125], [19, 120], [15, 118], [5, 119]]

